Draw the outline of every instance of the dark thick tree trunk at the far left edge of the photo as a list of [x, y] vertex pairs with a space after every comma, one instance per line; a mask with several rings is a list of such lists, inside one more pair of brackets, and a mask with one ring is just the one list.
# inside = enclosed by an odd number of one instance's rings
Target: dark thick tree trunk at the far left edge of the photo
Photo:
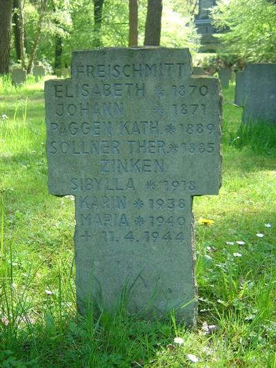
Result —
[[11, 27], [12, 1], [0, 0], [0, 74], [9, 72]]

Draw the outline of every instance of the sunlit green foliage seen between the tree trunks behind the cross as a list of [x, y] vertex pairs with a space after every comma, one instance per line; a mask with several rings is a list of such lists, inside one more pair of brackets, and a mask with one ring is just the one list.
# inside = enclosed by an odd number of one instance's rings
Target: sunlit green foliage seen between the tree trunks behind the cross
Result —
[[[184, 7], [172, 0], [164, 0], [161, 29], [161, 46], [188, 47], [195, 52], [199, 46], [199, 36], [190, 16]], [[139, 45], [144, 43], [147, 1], [139, 1]], [[34, 42], [40, 8], [36, 2], [26, 0], [23, 14], [26, 23], [26, 57]], [[41, 39], [36, 60], [43, 64], [54, 65], [55, 37], [62, 40], [62, 64], [69, 66], [72, 51], [95, 47], [93, 1], [87, 0], [52, 0], [48, 1], [48, 10], [43, 18]], [[100, 30], [103, 47], [128, 46], [128, 1], [105, 0]], [[15, 60], [14, 43], [12, 58]], [[48, 68], [49, 70], [49, 68]]]

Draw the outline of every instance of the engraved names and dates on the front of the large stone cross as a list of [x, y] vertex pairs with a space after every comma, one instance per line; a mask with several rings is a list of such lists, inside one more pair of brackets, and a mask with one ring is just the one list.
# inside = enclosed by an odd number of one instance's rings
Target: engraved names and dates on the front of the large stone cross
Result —
[[[146, 242], [184, 241], [183, 232], [176, 233], [173, 229], [185, 226], [183, 213], [187, 206], [181, 195], [195, 194], [197, 184], [188, 177], [172, 180], [171, 159], [183, 157], [185, 163], [188, 157], [210, 157], [219, 149], [213, 140], [215, 124], [204, 120], [209, 113], [208, 86], [177, 83], [165, 88], [161, 82], [166, 78], [181, 78], [184, 66], [181, 62], [77, 65], [75, 75], [80, 80], [86, 78], [85, 83], [77, 88], [62, 84], [55, 86], [55, 98], [68, 97], [70, 101], [57, 103], [57, 119], [50, 124], [50, 155], [93, 156], [101, 175], [72, 177], [70, 181], [72, 193], [85, 193], [77, 195], [77, 204], [81, 211], [86, 211], [80, 217], [86, 240], [88, 228], [90, 234], [90, 228], [97, 226], [130, 226], [132, 229], [123, 238], [113, 230], [102, 232], [103, 240], [142, 241], [138, 234], [134, 235], [133, 228], [147, 226], [151, 230], [144, 232]], [[147, 84], [147, 79], [159, 79], [160, 83]], [[127, 113], [125, 101], [129, 97], [149, 97], [150, 94], [154, 96], [150, 108], [136, 115]], [[135, 184], [135, 177], [140, 175], [146, 178], [142, 187], [156, 196], [130, 199], [128, 193], [139, 190], [141, 184]], [[160, 178], [155, 180], [151, 175], [160, 175]], [[168, 197], [160, 197], [158, 193], [161, 191], [168, 193]], [[124, 195], [110, 195], [112, 192]], [[177, 193], [179, 197], [170, 197], [170, 193]], [[132, 209], [165, 213], [130, 216]], [[120, 211], [124, 213], [120, 214]], [[172, 229], [166, 233], [154, 231], [160, 227]]]

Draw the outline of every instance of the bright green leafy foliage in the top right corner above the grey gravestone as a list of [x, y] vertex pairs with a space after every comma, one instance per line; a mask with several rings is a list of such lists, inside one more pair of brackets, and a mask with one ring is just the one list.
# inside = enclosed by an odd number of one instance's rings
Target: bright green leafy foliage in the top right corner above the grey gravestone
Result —
[[219, 0], [211, 11], [227, 52], [247, 61], [276, 61], [276, 5], [267, 0]]

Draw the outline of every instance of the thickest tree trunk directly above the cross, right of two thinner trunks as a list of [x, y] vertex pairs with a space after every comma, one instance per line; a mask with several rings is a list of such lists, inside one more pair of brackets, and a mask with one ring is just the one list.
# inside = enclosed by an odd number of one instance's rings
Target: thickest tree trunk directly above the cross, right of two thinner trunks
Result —
[[161, 35], [162, 0], [148, 0], [144, 45], [159, 46]]

